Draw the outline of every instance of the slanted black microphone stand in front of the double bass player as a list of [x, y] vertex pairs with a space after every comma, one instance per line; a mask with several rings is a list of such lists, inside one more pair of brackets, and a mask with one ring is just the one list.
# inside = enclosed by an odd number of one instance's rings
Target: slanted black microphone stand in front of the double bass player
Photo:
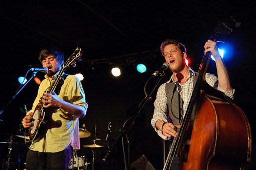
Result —
[[[117, 137], [117, 139], [115, 140], [115, 142], [113, 143], [112, 147], [107, 151], [107, 153], [105, 154], [105, 156], [102, 158], [102, 161], [106, 163], [106, 161], [108, 160], [109, 156], [112, 154], [113, 152], [113, 149], [116, 147], [116, 145], [119, 143], [120, 139], [123, 137], [123, 136], [126, 136], [127, 137], [127, 133], [131, 130], [136, 118], [139, 116], [141, 110], [143, 109], [143, 107], [145, 106], [145, 104], [147, 103], [148, 100], [152, 100], [151, 98], [151, 95], [152, 93], [155, 91], [156, 87], [158, 86], [159, 82], [162, 80], [162, 78], [164, 77], [164, 71], [163, 72], [160, 72], [160, 77], [157, 79], [156, 81], [156, 84], [154, 86], [154, 88], [152, 89], [152, 91], [149, 93], [149, 95], [146, 93], [146, 85], [148, 84], [148, 82], [153, 78], [155, 77], [154, 75], [152, 75], [149, 80], [146, 82], [145, 84], [145, 87], [144, 87], [144, 91], [145, 91], [145, 94], [146, 94], [146, 97], [141, 101], [140, 105], [139, 105], [139, 109], [138, 109], [138, 113], [136, 113], [134, 116], [128, 118], [124, 124], [123, 124], [123, 127], [119, 130], [120, 134], [119, 136]], [[129, 121], [131, 120], [131, 121]], [[127, 124], [126, 124], [127, 123]], [[130, 154], [130, 147], [129, 147], [129, 150], [128, 150], [128, 153]], [[129, 155], [128, 155], [129, 157]], [[126, 165], [125, 165], [126, 167]], [[128, 163], [128, 168], [129, 169], [129, 163]]]

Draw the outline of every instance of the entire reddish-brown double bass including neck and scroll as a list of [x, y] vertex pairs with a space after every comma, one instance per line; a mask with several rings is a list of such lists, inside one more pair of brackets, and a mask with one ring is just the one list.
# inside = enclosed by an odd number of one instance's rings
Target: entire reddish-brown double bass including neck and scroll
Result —
[[[228, 22], [220, 22], [210, 39], [226, 37], [232, 31]], [[250, 161], [251, 131], [245, 114], [205, 81], [210, 55], [208, 52], [202, 59], [188, 109], [163, 169], [171, 168], [173, 156], [180, 157], [180, 169], [244, 169]]]

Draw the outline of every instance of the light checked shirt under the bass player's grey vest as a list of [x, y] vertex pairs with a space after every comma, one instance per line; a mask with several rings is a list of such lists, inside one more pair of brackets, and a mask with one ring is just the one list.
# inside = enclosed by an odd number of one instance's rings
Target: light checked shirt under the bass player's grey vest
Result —
[[[193, 82], [194, 76], [195, 76], [195, 72], [189, 67], [189, 76], [187, 77], [187, 79], [185, 80], [183, 85], [181, 85], [179, 82], [175, 81], [174, 74], [172, 75], [171, 79], [168, 82], [166, 82], [166, 83], [170, 83], [171, 81], [173, 81], [175, 83], [177, 90], [180, 93], [180, 96], [183, 100], [184, 113], [186, 113], [186, 111], [187, 111], [188, 104], [189, 104], [190, 98], [192, 96], [193, 85], [194, 85], [194, 82]], [[233, 89], [233, 91], [222, 90], [218, 85], [218, 78], [215, 75], [206, 73], [205, 79], [206, 79], [206, 82], [213, 88], [218, 89], [219, 91], [223, 92], [226, 96], [230, 97], [231, 99], [234, 98], [234, 89]], [[166, 83], [162, 84], [158, 89], [157, 97], [154, 102], [155, 109], [154, 109], [153, 118], [151, 119], [151, 124], [160, 137], [162, 137], [163, 139], [170, 139], [170, 138], [164, 136], [161, 130], [157, 130], [157, 128], [156, 128], [156, 122], [158, 120], [164, 120], [165, 122], [168, 122], [168, 117], [166, 115], [166, 113], [168, 112], [167, 111], [168, 110], [168, 101], [167, 101], [167, 96], [166, 96], [166, 92], [165, 92], [165, 84]], [[183, 116], [185, 116], [185, 114], [183, 114]]]

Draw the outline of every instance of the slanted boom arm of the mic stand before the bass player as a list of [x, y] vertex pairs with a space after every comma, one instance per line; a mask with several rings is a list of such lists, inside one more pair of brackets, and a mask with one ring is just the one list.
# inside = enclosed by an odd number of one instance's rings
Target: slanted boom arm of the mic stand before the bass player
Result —
[[[117, 137], [117, 139], [115, 140], [114, 144], [112, 145], [112, 147], [107, 151], [107, 153], [105, 154], [105, 156], [102, 158], [103, 162], [106, 162], [109, 158], [109, 156], [112, 154], [113, 149], [115, 148], [115, 146], [117, 145], [117, 143], [119, 143], [121, 137], [126, 134], [127, 132], [129, 132], [129, 130], [131, 129], [132, 125], [134, 124], [135, 119], [139, 116], [141, 110], [143, 109], [143, 107], [145, 106], [145, 104], [147, 103], [148, 99], [150, 99], [150, 96], [152, 95], [152, 93], [155, 91], [156, 87], [158, 86], [159, 82], [162, 80], [162, 78], [164, 77], [164, 73], [160, 74], [160, 77], [158, 78], [155, 87], [152, 89], [152, 91], [149, 93], [149, 95], [146, 95], [146, 97], [143, 99], [143, 101], [141, 102], [140, 106], [139, 106], [139, 111], [138, 113], [135, 114], [135, 116], [130, 117], [129, 119], [133, 118], [133, 121], [129, 121], [130, 124], [126, 126], [126, 128], [122, 128], [120, 129], [120, 134]], [[152, 78], [152, 77], [151, 77]], [[151, 79], [150, 78], [150, 79]], [[144, 103], [143, 103], [144, 102]], [[128, 119], [127, 119], [128, 120]], [[127, 122], [127, 120], [125, 122]]]

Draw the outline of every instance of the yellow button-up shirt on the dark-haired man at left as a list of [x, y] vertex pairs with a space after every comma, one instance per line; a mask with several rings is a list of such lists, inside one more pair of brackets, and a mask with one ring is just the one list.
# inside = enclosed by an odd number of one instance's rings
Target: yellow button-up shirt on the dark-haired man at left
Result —
[[[57, 74], [52, 77], [52, 82], [57, 78]], [[45, 78], [39, 86], [36, 100], [28, 114], [34, 112], [40, 97], [51, 85], [47, 75]], [[88, 105], [85, 102], [82, 84], [74, 75], [67, 76], [58, 97], [69, 103], [83, 106], [87, 110]], [[34, 143], [31, 150], [54, 153], [64, 150], [70, 143], [74, 148], [80, 149], [78, 117], [61, 108], [49, 109], [49, 119], [41, 136], [44, 135], [45, 137]]]

